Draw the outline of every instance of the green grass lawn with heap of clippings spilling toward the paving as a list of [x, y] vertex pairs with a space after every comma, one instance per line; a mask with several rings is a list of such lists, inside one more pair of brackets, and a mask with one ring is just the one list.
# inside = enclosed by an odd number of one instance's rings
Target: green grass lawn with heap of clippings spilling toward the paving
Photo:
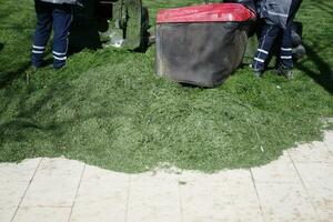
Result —
[[[143, 2], [153, 23], [159, 8], [200, 1]], [[62, 71], [38, 71], [28, 87], [33, 1], [0, 6], [0, 162], [64, 155], [123, 172], [165, 162], [206, 172], [248, 168], [322, 139], [322, 120], [333, 117], [333, 1], [303, 1], [297, 20], [309, 56], [295, 80], [272, 71], [255, 79], [244, 67], [216, 89], [155, 77], [154, 47], [84, 50]]]

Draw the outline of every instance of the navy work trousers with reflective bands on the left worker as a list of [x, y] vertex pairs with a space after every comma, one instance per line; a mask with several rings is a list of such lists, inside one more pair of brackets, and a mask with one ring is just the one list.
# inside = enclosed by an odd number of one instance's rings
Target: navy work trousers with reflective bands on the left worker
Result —
[[53, 27], [53, 68], [65, 64], [68, 37], [72, 21], [72, 6], [53, 4], [36, 0], [37, 26], [32, 46], [32, 65], [39, 68], [43, 63], [43, 53]]

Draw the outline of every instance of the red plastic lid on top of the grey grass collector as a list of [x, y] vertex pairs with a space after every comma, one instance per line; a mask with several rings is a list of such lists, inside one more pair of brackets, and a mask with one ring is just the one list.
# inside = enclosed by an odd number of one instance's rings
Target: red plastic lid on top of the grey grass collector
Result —
[[241, 22], [254, 17], [251, 10], [240, 3], [210, 3], [160, 10], [157, 23]]

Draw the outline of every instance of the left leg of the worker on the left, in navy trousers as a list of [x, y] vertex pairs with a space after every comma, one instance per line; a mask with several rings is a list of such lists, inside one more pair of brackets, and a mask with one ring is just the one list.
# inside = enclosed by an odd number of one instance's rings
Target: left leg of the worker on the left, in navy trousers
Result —
[[37, 24], [32, 44], [32, 65], [40, 68], [52, 28], [52, 4], [34, 1]]

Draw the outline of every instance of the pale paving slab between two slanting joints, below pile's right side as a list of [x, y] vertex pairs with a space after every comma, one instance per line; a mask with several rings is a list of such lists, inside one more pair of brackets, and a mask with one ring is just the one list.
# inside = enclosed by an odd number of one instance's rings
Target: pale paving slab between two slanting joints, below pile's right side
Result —
[[279, 160], [251, 170], [255, 182], [301, 183], [294, 164], [286, 152]]

